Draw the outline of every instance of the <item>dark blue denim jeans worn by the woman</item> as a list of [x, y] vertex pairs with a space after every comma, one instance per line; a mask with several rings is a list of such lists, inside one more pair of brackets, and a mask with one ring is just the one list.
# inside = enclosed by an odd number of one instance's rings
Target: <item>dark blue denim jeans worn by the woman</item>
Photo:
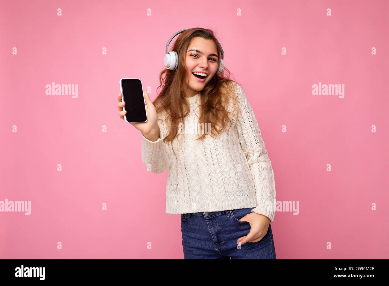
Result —
[[252, 209], [181, 214], [184, 259], [276, 259], [270, 224], [258, 242], [238, 245], [238, 238], [251, 229], [250, 223], [239, 219]]

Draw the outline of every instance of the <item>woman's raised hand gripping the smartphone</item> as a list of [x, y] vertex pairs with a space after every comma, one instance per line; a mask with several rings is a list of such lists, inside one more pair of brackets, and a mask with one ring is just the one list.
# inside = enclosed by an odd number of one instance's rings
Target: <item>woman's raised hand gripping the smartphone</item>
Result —
[[[130, 122], [132, 126], [142, 132], [143, 136], [150, 141], [156, 141], [159, 139], [159, 126], [157, 124], [157, 112], [154, 105], [151, 102], [149, 94], [146, 90], [143, 91], [143, 96], [146, 102], [147, 121], [146, 122]], [[119, 93], [117, 100], [119, 101], [119, 116], [124, 120], [124, 114], [127, 111], [123, 111], [123, 106], [126, 105], [122, 102], [122, 93]]]

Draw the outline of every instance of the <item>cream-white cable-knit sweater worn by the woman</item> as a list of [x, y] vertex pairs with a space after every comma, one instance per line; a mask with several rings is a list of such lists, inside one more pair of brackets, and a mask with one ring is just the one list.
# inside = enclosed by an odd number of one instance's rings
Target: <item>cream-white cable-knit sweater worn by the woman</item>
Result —
[[[200, 93], [186, 98], [190, 113], [185, 118], [198, 123]], [[232, 97], [238, 100], [231, 109]], [[166, 213], [214, 212], [252, 207], [272, 222], [275, 215], [275, 182], [258, 122], [244, 90], [236, 82], [228, 88], [227, 111], [232, 126], [214, 139], [203, 141], [196, 133], [179, 133], [173, 142], [164, 142], [168, 121], [158, 114], [159, 139], [150, 141], [142, 134], [142, 162], [155, 174], [169, 168], [166, 182]], [[188, 124], [185, 125], [188, 128]], [[229, 127], [229, 121], [227, 128]]]

